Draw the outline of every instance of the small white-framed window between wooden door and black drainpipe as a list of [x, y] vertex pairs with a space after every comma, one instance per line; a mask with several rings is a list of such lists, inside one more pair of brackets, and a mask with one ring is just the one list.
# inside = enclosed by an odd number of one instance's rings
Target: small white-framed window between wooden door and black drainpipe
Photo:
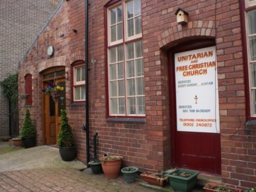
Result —
[[85, 66], [79, 65], [74, 67], [74, 86], [73, 99], [74, 101], [85, 100]]

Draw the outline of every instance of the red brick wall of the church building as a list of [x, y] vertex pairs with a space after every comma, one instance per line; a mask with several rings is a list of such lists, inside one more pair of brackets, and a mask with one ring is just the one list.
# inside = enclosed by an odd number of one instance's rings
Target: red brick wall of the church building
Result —
[[[221, 130], [221, 176], [223, 182], [241, 187], [255, 186], [255, 132], [245, 134], [244, 68], [241, 43], [239, 1], [146, 1], [141, 0], [145, 70], [146, 122], [116, 122], [106, 116], [106, 31], [104, 4], [108, 1], [90, 1], [89, 60], [90, 63], [90, 144], [99, 133], [97, 152], [124, 156], [125, 165], [144, 170], [166, 170], [171, 166], [171, 127], [168, 50], [191, 39], [216, 40]], [[66, 67], [67, 110], [75, 133], [78, 158], [86, 161], [84, 104], [72, 104], [70, 97], [70, 65], [84, 60], [84, 3], [67, 1], [51, 20], [44, 33], [20, 65], [20, 77], [32, 72], [35, 84], [41, 84], [39, 73], [49, 67]], [[176, 22], [175, 11], [183, 8], [189, 13], [186, 26]], [[215, 9], [216, 8], [216, 9]], [[71, 32], [77, 29], [77, 34]], [[64, 34], [64, 35], [63, 35]], [[54, 45], [56, 53], [46, 58], [46, 47]], [[33, 68], [31, 70], [30, 68]], [[22, 87], [20, 79], [20, 87]], [[38, 144], [42, 140], [40, 87], [33, 89], [31, 106], [38, 125]], [[23, 110], [21, 110], [23, 111]], [[22, 117], [23, 112], [20, 112]]]

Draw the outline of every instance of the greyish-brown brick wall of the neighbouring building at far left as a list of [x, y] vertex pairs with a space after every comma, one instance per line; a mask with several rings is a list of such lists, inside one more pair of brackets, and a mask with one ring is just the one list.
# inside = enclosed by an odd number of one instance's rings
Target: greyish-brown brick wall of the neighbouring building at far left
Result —
[[[60, 0], [61, 1], [61, 0]], [[58, 3], [60, 3], [58, 1]], [[48, 0], [3, 0], [0, 5], [0, 81], [17, 72], [18, 62], [52, 15]], [[0, 138], [9, 135], [8, 100], [0, 87]]]

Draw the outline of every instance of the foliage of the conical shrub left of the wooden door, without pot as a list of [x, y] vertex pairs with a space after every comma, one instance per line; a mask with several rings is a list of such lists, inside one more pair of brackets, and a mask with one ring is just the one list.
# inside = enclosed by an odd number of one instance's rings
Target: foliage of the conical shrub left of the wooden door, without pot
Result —
[[31, 121], [29, 109], [26, 109], [26, 113], [25, 113], [24, 120], [22, 122], [20, 134], [24, 138], [33, 138], [36, 136], [35, 125], [33, 125], [32, 121]]

